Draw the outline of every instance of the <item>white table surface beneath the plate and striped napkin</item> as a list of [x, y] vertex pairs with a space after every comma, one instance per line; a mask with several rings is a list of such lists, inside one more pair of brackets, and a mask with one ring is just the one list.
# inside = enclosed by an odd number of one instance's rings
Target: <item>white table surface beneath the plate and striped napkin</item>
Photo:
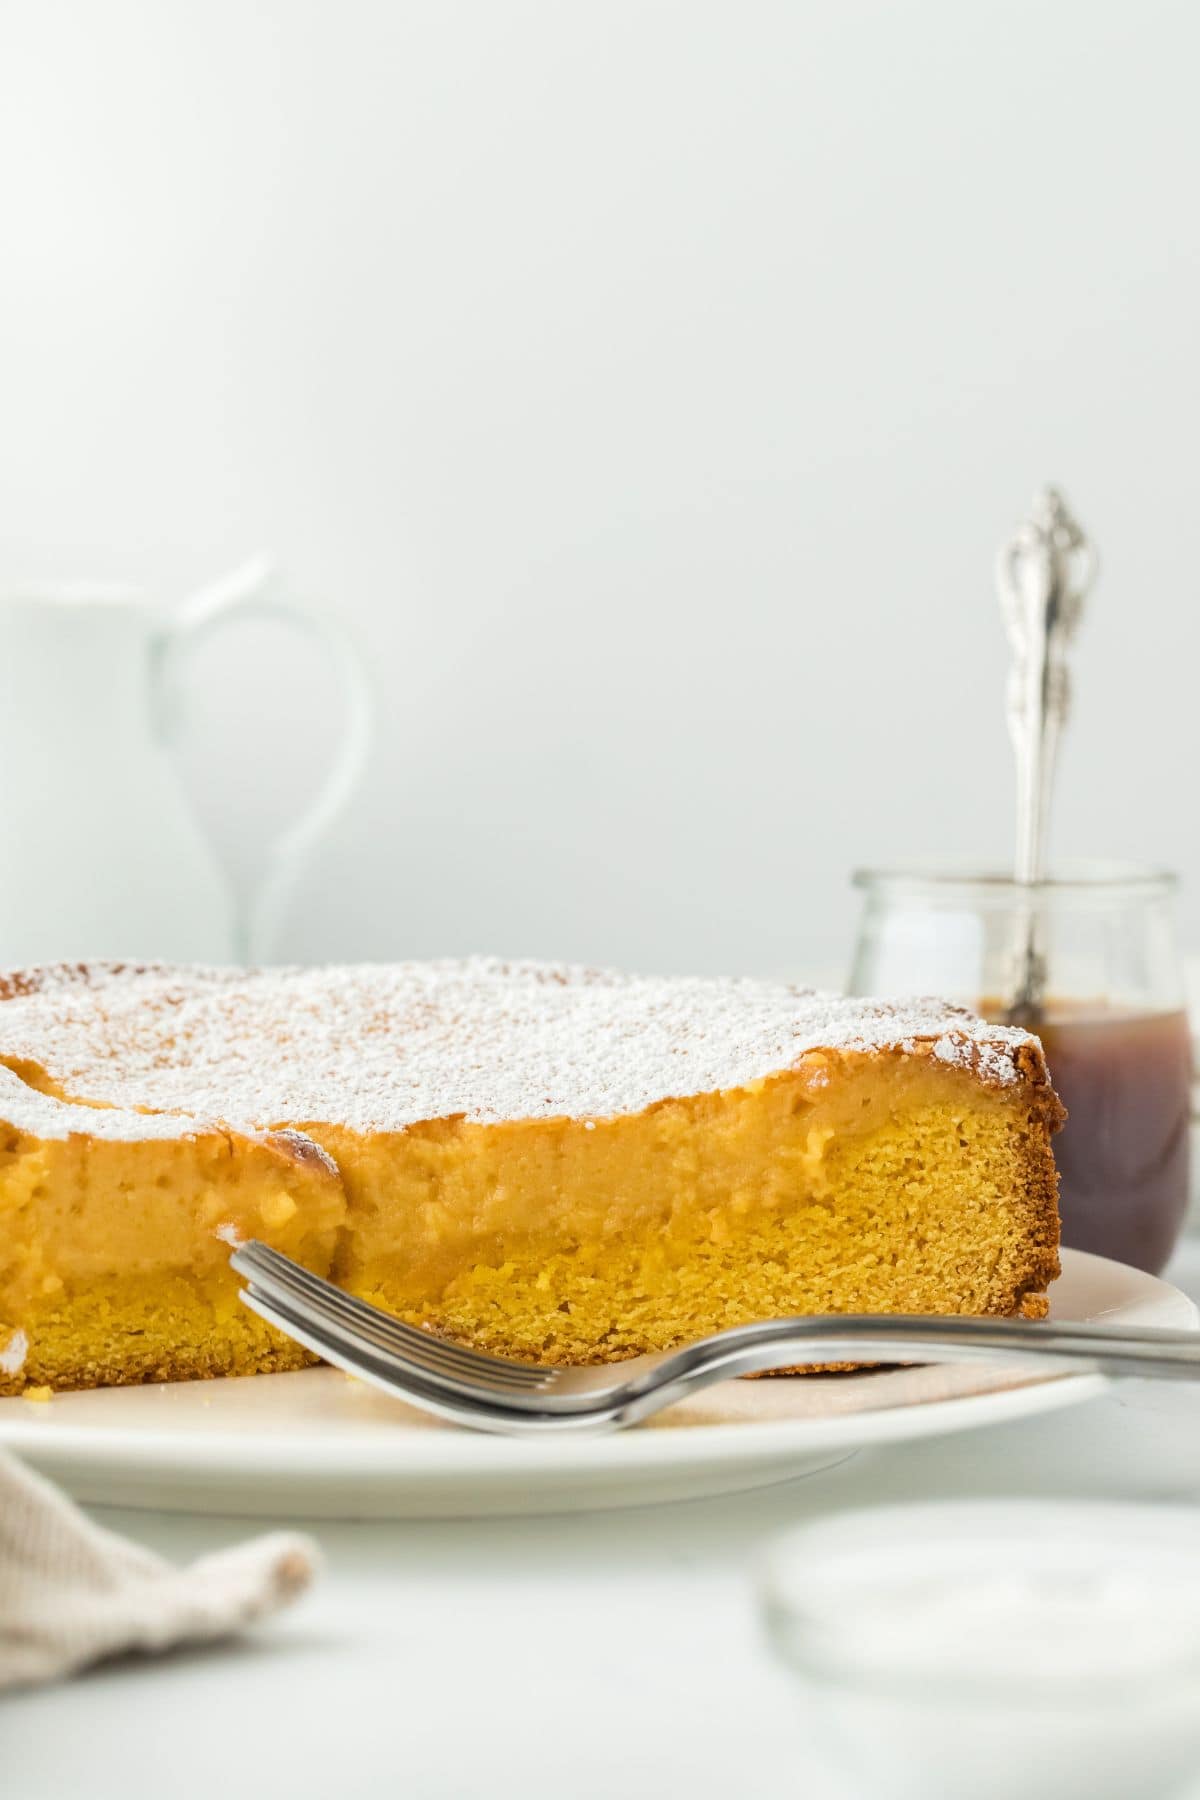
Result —
[[[1168, 1273], [1200, 1298], [1200, 1240]], [[829, 1508], [961, 1494], [1200, 1499], [1200, 1390], [1126, 1384], [745, 1498], [315, 1525], [320, 1584], [254, 1638], [0, 1703], [0, 1795], [824, 1800], [844, 1789], [757, 1629], [763, 1546]], [[175, 1559], [255, 1530], [97, 1517]]]

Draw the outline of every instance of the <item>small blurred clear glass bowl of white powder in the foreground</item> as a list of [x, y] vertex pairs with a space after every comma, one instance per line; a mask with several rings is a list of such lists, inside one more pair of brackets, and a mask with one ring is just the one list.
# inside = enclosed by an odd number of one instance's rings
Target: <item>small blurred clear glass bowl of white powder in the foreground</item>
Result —
[[829, 1516], [774, 1546], [761, 1600], [797, 1683], [804, 1751], [824, 1751], [846, 1793], [1191, 1793], [1189, 1507], [966, 1499]]

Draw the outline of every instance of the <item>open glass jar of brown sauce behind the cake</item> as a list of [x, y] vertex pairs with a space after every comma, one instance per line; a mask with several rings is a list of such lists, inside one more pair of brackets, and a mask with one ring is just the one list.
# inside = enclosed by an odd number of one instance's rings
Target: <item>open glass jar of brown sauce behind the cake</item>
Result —
[[937, 994], [1006, 1021], [1033, 929], [1033, 1024], [1069, 1121], [1056, 1138], [1063, 1244], [1159, 1273], [1187, 1211], [1191, 1037], [1177, 880], [1081, 864], [1024, 886], [954, 868], [860, 869], [851, 994]]

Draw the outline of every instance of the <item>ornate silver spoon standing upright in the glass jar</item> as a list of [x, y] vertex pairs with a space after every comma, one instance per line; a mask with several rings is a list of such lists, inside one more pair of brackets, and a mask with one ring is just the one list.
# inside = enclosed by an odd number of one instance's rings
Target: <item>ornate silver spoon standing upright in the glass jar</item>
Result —
[[[1067, 644], [1096, 580], [1096, 551], [1056, 488], [1043, 488], [997, 562], [1013, 646], [1007, 729], [1016, 756], [1016, 857], [1022, 886], [1042, 880], [1058, 738], [1070, 706]], [[1029, 1022], [1045, 997], [1045, 958], [1033, 905], [1016, 918], [1009, 1017]]]

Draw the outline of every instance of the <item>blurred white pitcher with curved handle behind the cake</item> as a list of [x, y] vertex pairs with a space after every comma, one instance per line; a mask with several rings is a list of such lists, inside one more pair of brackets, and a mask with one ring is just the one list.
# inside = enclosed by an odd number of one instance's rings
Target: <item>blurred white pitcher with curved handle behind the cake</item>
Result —
[[[248, 616], [315, 635], [345, 695], [333, 767], [236, 900], [178, 781], [171, 736], [182, 664]], [[367, 752], [360, 662], [297, 610], [266, 558], [164, 616], [117, 587], [0, 596], [0, 967], [110, 956], [228, 961], [270, 950], [299, 864]]]

